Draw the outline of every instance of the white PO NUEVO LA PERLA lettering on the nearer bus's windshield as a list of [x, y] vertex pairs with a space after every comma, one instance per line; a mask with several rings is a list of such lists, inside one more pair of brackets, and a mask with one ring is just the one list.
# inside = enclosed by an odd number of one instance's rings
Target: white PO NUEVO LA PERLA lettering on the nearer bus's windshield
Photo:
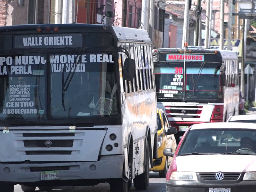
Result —
[[10, 68], [9, 75], [30, 75], [32, 74], [31, 65], [45, 64], [46, 60], [42, 56], [15, 56], [0, 57], [0, 75], [7, 75], [7, 67]]

